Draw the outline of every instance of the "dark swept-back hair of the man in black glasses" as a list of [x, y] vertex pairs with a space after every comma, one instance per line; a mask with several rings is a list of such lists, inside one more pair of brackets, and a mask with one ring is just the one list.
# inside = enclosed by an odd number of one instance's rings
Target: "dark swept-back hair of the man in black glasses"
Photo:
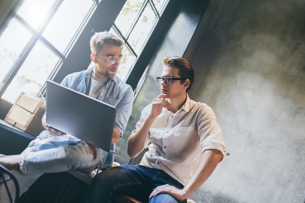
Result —
[[[168, 67], [178, 68], [179, 77], [190, 80], [190, 85], [187, 88], [187, 91], [191, 88], [191, 85], [194, 81], [194, 70], [191, 67], [191, 64], [184, 58], [179, 56], [167, 56], [162, 59], [162, 64]], [[184, 83], [184, 80], [180, 81], [181, 84]]]

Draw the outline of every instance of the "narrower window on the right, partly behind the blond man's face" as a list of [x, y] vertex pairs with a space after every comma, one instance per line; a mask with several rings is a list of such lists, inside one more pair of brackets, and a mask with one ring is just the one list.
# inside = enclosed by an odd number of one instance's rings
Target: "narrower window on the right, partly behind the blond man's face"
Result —
[[126, 42], [122, 54], [127, 60], [117, 71], [122, 80], [127, 80], [167, 2], [168, 0], [127, 0], [114, 21], [110, 32], [121, 36]]

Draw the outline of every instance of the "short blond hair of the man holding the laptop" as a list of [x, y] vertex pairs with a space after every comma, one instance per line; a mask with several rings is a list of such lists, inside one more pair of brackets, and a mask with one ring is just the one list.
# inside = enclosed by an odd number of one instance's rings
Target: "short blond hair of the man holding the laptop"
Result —
[[96, 53], [99, 54], [103, 50], [104, 45], [107, 45], [107, 44], [112, 44], [112, 45], [115, 45], [118, 47], [123, 47], [125, 42], [121, 37], [119, 37], [113, 33], [109, 33], [107, 31], [98, 32], [98, 33], [95, 33], [90, 39], [91, 52], [94, 54], [96, 54]]

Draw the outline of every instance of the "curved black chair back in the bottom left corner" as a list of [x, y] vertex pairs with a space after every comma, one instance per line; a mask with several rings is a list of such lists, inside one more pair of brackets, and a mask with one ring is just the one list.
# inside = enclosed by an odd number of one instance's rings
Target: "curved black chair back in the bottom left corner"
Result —
[[[15, 197], [12, 197], [12, 193], [13, 191], [10, 190], [9, 185], [11, 185], [12, 182], [15, 186]], [[18, 181], [16, 179], [16, 177], [14, 176], [14, 174], [6, 169], [4, 166], [2, 166], [0, 164], [0, 186], [4, 187], [4, 189], [7, 192], [7, 196], [8, 199], [10, 200], [11, 203], [17, 203], [18, 202], [18, 198], [19, 198], [19, 184]]]

